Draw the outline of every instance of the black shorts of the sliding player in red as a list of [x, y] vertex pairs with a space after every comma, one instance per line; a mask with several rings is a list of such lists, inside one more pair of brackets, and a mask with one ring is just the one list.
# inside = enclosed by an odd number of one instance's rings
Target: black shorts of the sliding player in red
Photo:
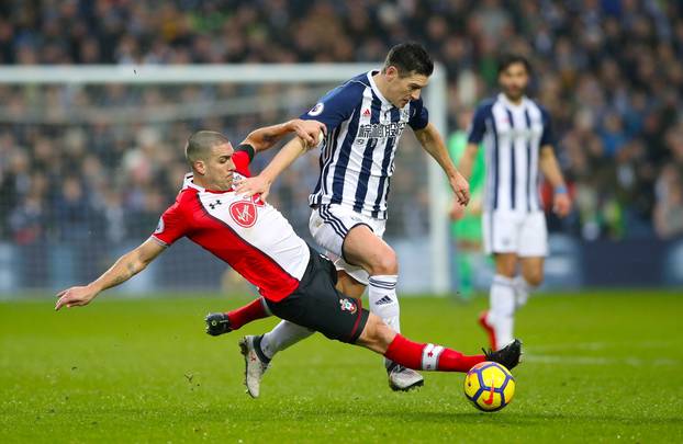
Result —
[[278, 318], [311, 330], [329, 339], [355, 343], [368, 322], [368, 310], [360, 299], [339, 293], [337, 270], [325, 257], [311, 249], [309, 266], [299, 287], [280, 301], [267, 300], [268, 308]]

